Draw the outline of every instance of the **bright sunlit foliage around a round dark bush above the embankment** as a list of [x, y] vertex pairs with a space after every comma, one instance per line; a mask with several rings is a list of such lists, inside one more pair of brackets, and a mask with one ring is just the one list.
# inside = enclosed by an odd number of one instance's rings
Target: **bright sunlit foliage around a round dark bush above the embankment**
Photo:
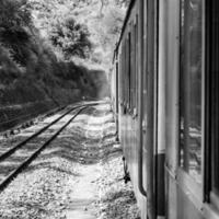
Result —
[[60, 59], [77, 60], [76, 57], [80, 57], [85, 58], [87, 64], [108, 68], [129, 0], [28, 2], [35, 25]]

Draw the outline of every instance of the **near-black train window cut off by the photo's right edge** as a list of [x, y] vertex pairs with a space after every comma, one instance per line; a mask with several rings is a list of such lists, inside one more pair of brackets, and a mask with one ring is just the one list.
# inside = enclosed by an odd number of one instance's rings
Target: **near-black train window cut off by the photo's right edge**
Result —
[[209, 34], [209, 136], [211, 164], [211, 191], [219, 196], [219, 2], [211, 0], [210, 4], [210, 33]]

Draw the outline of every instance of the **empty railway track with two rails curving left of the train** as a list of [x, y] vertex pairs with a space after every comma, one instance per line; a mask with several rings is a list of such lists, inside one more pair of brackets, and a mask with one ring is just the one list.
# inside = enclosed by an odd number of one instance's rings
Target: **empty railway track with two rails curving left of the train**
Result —
[[83, 103], [68, 108], [61, 116], [0, 154], [0, 191], [3, 191], [82, 111], [96, 104], [99, 103]]

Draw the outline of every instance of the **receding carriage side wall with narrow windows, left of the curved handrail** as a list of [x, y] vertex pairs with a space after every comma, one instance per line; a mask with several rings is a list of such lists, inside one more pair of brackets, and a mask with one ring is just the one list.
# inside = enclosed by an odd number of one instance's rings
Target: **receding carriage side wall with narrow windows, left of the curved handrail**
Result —
[[[139, 5], [138, 2], [132, 5], [129, 12], [127, 27], [124, 30], [124, 37], [118, 48], [118, 70], [119, 70], [119, 140], [124, 147], [124, 154], [128, 171], [134, 183], [134, 189], [137, 195], [138, 204], [146, 205], [146, 198], [138, 189], [138, 151], [132, 146], [139, 145], [138, 138], [138, 53], [139, 45]], [[122, 85], [123, 84], [123, 85]], [[146, 217], [146, 209], [142, 210]]]

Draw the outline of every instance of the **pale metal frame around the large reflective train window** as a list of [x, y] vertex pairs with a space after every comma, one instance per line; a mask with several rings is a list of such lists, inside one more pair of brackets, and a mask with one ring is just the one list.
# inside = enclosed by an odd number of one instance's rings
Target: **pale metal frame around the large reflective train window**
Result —
[[[183, 5], [182, 2], [184, 0], [180, 0], [180, 66], [182, 66], [182, 10], [183, 10]], [[204, 153], [205, 153], [205, 16], [204, 16], [204, 11], [205, 11], [205, 0], [200, 0], [203, 8], [201, 8], [201, 83], [200, 83], [200, 101], [201, 101], [201, 114], [200, 114], [200, 120], [201, 120], [201, 128], [200, 128], [200, 135], [201, 135], [201, 139], [200, 139], [200, 159], [201, 159], [201, 165], [200, 165], [200, 183], [196, 182], [196, 180], [188, 173], [186, 172], [186, 170], [184, 170], [184, 166], [181, 165], [181, 147], [180, 147], [180, 142], [181, 142], [181, 104], [178, 106], [178, 154], [177, 154], [177, 173], [176, 173], [176, 177], [177, 177], [177, 183], [178, 185], [187, 191], [189, 193], [191, 199], [193, 200], [193, 203], [199, 208], [201, 209], [203, 206], [203, 196], [204, 196], [204, 164], [205, 164], [205, 159], [204, 159]], [[181, 84], [181, 80], [182, 80], [182, 69], [178, 69], [180, 71], [180, 83]], [[178, 93], [181, 93], [181, 85], [178, 88]], [[180, 97], [180, 96], [178, 96]], [[180, 100], [181, 102], [181, 100]], [[186, 146], [187, 147], [187, 146]]]

